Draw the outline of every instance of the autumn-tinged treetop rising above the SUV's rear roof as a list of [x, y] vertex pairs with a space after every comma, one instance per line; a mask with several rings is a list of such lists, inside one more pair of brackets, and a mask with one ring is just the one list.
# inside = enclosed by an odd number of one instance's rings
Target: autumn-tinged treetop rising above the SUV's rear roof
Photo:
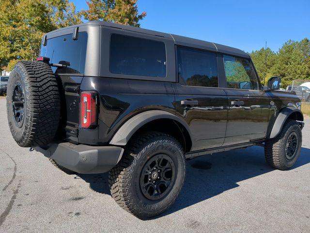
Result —
[[139, 14], [137, 0], [89, 0], [88, 8], [81, 15], [88, 20], [103, 20], [140, 27], [139, 21], [146, 16]]

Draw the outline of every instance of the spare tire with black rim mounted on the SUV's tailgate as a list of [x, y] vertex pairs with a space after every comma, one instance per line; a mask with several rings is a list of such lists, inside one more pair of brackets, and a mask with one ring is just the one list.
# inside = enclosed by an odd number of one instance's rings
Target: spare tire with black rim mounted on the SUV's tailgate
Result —
[[21, 147], [50, 143], [60, 121], [60, 93], [51, 67], [44, 62], [18, 62], [7, 86], [7, 116]]

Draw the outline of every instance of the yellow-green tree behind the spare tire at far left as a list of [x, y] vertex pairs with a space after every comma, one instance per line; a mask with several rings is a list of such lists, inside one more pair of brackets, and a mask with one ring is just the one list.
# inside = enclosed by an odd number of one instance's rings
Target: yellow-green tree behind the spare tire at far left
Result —
[[0, 70], [33, 60], [44, 33], [81, 23], [69, 0], [1, 0]]

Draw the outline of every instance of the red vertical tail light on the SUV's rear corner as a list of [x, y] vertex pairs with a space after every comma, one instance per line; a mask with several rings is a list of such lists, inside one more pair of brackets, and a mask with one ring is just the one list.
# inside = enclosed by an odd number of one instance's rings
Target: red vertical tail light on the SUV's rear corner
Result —
[[80, 124], [89, 129], [97, 126], [97, 93], [83, 91], [81, 93]]

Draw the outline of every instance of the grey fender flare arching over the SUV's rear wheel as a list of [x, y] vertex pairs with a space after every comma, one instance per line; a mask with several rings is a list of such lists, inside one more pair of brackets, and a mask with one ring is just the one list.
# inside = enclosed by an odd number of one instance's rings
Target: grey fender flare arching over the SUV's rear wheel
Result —
[[[189, 130], [188, 125], [186, 122], [182, 121], [179, 117], [163, 111], [163, 110], [150, 110], [143, 113], [140, 113], [136, 116], [131, 117], [128, 119], [121, 128], [114, 134], [109, 144], [116, 145], [116, 146], [125, 146], [131, 136], [137, 132], [143, 125], [151, 122], [153, 120], [158, 119], [171, 119], [175, 120], [178, 123], [182, 124], [187, 132], [189, 133], [190, 139], [192, 140], [192, 136]], [[192, 141], [193, 143], [193, 141]]]

